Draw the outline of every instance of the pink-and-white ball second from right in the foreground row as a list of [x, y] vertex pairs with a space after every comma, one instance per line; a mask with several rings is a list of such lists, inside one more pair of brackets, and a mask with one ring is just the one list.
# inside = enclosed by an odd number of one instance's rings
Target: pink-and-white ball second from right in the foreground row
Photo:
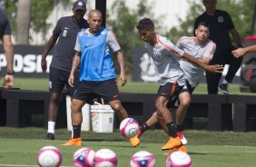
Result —
[[153, 167], [155, 159], [151, 152], [140, 151], [133, 154], [131, 167]]

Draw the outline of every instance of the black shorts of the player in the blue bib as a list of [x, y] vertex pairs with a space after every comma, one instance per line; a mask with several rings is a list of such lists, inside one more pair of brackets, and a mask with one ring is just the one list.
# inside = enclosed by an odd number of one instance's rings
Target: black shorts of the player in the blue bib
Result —
[[116, 79], [99, 82], [81, 81], [74, 93], [74, 99], [92, 104], [95, 98], [103, 98], [107, 103], [120, 100]]

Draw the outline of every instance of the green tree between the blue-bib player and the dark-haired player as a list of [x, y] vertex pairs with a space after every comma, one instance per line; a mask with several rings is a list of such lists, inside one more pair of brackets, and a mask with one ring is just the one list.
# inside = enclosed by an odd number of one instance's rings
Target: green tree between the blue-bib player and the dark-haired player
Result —
[[[146, 0], [140, 0], [136, 10], [131, 10], [125, 5], [125, 0], [116, 0], [110, 11], [106, 14], [106, 26], [116, 35], [116, 38], [123, 49], [125, 57], [126, 71], [129, 73], [133, 64], [133, 49], [143, 46], [144, 42], [136, 30], [135, 25], [142, 17], [153, 19], [153, 13], [150, 10], [153, 4], [148, 5]], [[112, 15], [110, 17], [110, 15]], [[153, 19], [156, 27], [160, 27], [159, 22]], [[116, 60], [113, 58], [116, 68]]]

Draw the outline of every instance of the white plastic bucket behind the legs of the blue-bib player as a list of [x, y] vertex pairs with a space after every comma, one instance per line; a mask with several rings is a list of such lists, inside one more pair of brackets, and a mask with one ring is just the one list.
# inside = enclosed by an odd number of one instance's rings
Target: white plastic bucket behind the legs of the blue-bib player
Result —
[[94, 103], [91, 105], [93, 131], [113, 133], [113, 109], [110, 105]]

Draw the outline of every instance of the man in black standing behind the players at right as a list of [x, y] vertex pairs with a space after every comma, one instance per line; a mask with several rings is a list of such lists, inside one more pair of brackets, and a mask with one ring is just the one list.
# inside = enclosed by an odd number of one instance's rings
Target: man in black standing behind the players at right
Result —
[[230, 64], [228, 73], [220, 83], [222, 74], [211, 74], [206, 72], [206, 81], [209, 94], [217, 94], [218, 88], [222, 93], [228, 94], [228, 84], [232, 82], [235, 74], [241, 66], [242, 57], [234, 58], [231, 51], [234, 46], [231, 44], [229, 33], [233, 36], [234, 42], [241, 47], [241, 38], [232, 22], [231, 16], [222, 10], [216, 9], [217, 0], [203, 0], [206, 12], [198, 16], [194, 22], [194, 29], [201, 22], [208, 22], [211, 25], [211, 39], [216, 44], [216, 52], [210, 64]]

